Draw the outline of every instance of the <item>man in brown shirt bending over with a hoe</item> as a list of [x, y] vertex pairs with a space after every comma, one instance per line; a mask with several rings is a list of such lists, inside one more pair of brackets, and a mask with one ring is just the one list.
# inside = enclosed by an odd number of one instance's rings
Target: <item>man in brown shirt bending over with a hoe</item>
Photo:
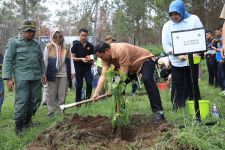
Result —
[[146, 49], [127, 43], [112, 43], [109, 45], [105, 42], [100, 42], [96, 45], [95, 52], [97, 57], [102, 59], [103, 65], [102, 74], [93, 95], [94, 99], [99, 96], [110, 65], [114, 65], [115, 68], [128, 74], [130, 81], [134, 76], [131, 77], [129, 74], [137, 75], [141, 73], [152, 111], [155, 113], [154, 123], [160, 123], [160, 121], [164, 120], [161, 98], [153, 79], [155, 62], [152, 53]]

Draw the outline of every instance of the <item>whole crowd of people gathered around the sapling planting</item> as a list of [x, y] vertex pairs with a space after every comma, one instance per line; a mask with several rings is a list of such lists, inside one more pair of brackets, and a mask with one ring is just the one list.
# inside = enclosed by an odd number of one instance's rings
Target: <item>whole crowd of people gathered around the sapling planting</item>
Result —
[[[223, 19], [225, 19], [224, 9], [221, 13]], [[186, 100], [194, 99], [194, 96], [201, 99], [198, 87], [199, 64], [194, 64], [192, 72], [193, 82], [197, 85], [194, 95], [193, 90], [190, 90], [192, 80], [187, 56], [173, 54], [171, 33], [203, 28], [203, 25], [198, 16], [186, 11], [181, 0], [174, 0], [170, 4], [168, 15], [170, 20], [162, 29], [162, 45], [167, 57], [158, 61], [149, 50], [128, 43], [116, 43], [112, 36], [107, 36], [105, 41], [94, 46], [88, 42], [88, 30], [85, 28], [79, 30], [80, 40], [74, 41], [71, 48], [65, 45], [63, 32], [57, 28], [52, 29], [51, 42], [42, 50], [40, 44], [34, 40], [35, 22], [25, 20], [19, 35], [8, 41], [2, 69], [2, 79], [7, 80], [8, 89], [15, 89], [16, 135], [21, 137], [25, 128], [33, 126], [32, 116], [41, 104], [42, 86], [44, 86], [43, 99], [46, 100], [44, 103], [47, 104], [48, 117], [52, 118], [59, 105], [65, 103], [66, 93], [68, 88], [72, 87], [73, 79], [76, 80], [76, 102], [89, 98], [97, 99], [104, 91], [106, 73], [112, 65], [127, 74], [126, 83], [137, 81], [141, 74], [155, 124], [165, 120], [160, 93], [154, 80], [157, 62], [160, 68], [164, 68], [164, 74], [171, 73], [171, 101], [174, 110], [185, 107]], [[223, 31], [225, 32], [225, 25]], [[204, 56], [199, 53], [193, 54], [194, 58], [199, 56], [206, 58], [209, 84], [220, 86], [223, 94], [225, 94], [224, 32], [221, 28], [215, 29], [215, 36], [213, 36], [213, 32], [206, 31], [207, 52]], [[95, 72], [97, 70], [94, 74], [98, 74], [99, 78], [92, 95], [93, 66], [96, 67]], [[2, 80], [0, 80], [0, 111], [4, 99], [4, 91], [1, 87]], [[132, 93], [135, 93], [137, 83], [133, 82], [132, 87]]]

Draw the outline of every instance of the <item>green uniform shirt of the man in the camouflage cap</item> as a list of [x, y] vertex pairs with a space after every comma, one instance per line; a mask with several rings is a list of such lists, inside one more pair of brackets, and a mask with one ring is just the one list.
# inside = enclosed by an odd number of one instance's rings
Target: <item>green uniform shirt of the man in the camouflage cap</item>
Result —
[[37, 41], [27, 41], [21, 35], [8, 41], [3, 61], [4, 79], [33, 81], [44, 74], [43, 51]]

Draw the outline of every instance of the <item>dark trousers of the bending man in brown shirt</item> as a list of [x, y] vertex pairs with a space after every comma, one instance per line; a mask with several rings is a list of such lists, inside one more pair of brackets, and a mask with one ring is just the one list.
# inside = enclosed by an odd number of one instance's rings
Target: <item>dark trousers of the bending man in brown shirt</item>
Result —
[[[163, 111], [163, 108], [161, 98], [159, 95], [159, 90], [156, 86], [153, 77], [154, 70], [155, 70], [155, 62], [149, 59], [143, 63], [140, 73], [142, 74], [143, 82], [148, 94], [151, 109], [155, 113], [158, 111]], [[136, 76], [134, 74], [128, 75], [129, 81], [132, 81], [135, 77]], [[126, 81], [126, 83], [128, 83], [129, 81]]]

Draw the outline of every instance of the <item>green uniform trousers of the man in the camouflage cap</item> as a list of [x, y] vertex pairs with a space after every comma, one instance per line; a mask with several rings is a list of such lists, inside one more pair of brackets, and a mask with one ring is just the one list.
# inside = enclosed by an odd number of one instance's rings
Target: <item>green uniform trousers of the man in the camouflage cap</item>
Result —
[[41, 104], [41, 80], [16, 81], [16, 100], [14, 119], [20, 120], [33, 116]]

